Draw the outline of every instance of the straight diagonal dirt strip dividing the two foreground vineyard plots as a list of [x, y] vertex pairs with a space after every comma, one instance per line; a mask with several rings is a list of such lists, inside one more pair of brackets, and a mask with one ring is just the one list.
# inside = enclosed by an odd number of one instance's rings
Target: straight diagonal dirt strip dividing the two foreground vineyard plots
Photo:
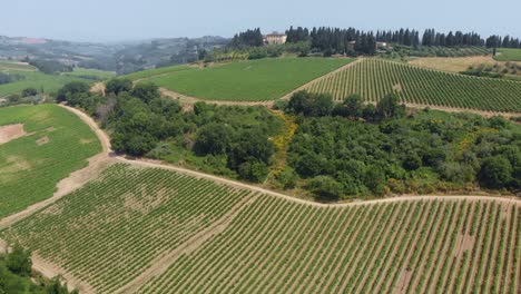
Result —
[[115, 291], [114, 293], [136, 293], [140, 286], [145, 285], [151, 278], [163, 274], [168, 267], [181, 255], [190, 253], [191, 251], [198, 248], [201, 244], [204, 244], [207, 239], [214, 237], [217, 234], [223, 233], [235, 216], [244, 209], [246, 206], [253, 203], [256, 196], [249, 195], [245, 197], [243, 200], [237, 203], [232, 209], [226, 213], [220, 219], [214, 222], [207, 228], [200, 231], [185, 243], [179, 245], [176, 249], [171, 251], [167, 255], [158, 258], [157, 261], [151, 262], [154, 266], [149, 267], [147, 271], [141, 273], [138, 277], [132, 280], [129, 284], [120, 287], [119, 290]]

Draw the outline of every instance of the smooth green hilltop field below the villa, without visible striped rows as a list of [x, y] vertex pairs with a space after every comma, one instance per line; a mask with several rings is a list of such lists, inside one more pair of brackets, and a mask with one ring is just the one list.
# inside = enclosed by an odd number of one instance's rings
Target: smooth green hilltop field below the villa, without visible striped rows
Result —
[[281, 98], [351, 61], [353, 59], [267, 58], [181, 70], [147, 80], [159, 87], [204, 99], [265, 101]]

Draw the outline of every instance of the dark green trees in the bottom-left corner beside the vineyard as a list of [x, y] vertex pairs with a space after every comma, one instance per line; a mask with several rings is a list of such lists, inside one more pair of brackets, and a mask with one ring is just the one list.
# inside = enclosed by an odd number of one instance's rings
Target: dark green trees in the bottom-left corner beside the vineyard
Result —
[[[51, 281], [32, 274], [30, 253], [14, 246], [13, 251], [0, 254], [0, 293], [9, 294], [68, 294], [67, 285], [59, 277]], [[33, 281], [31, 281], [33, 280]], [[73, 291], [72, 293], [78, 293]]]

